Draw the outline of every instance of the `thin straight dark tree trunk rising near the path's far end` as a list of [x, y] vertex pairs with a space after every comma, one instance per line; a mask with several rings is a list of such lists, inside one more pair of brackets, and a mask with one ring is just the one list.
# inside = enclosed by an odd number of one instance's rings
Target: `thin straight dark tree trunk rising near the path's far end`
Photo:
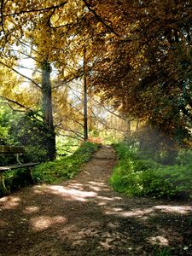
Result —
[[86, 79], [86, 49], [84, 48], [84, 141], [88, 140], [87, 125], [87, 79]]

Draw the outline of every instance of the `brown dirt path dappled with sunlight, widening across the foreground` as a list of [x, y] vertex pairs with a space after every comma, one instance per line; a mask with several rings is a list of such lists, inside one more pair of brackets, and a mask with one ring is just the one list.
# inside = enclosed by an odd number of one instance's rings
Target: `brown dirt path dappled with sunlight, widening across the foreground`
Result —
[[192, 255], [192, 205], [113, 192], [114, 163], [102, 147], [75, 179], [0, 199], [0, 255]]

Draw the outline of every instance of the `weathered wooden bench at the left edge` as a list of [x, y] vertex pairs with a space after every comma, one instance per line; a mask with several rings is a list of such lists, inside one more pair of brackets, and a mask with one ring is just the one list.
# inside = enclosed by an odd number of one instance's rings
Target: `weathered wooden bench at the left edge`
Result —
[[32, 178], [32, 182], [34, 182], [34, 179], [32, 177], [32, 166], [36, 166], [39, 163], [25, 163], [22, 164], [20, 163], [20, 154], [26, 154], [26, 149], [24, 147], [14, 147], [14, 146], [4, 146], [4, 145], [0, 145], [0, 154], [15, 154], [16, 155], [16, 160], [17, 163], [16, 165], [12, 165], [12, 166], [0, 166], [0, 182], [3, 185], [3, 189], [5, 191], [5, 193], [8, 192], [8, 189], [5, 186], [4, 183], [4, 177], [3, 177], [3, 173], [7, 172], [7, 171], [11, 171], [13, 169], [18, 169], [18, 168], [27, 168], [27, 170], [29, 171], [29, 175]]

